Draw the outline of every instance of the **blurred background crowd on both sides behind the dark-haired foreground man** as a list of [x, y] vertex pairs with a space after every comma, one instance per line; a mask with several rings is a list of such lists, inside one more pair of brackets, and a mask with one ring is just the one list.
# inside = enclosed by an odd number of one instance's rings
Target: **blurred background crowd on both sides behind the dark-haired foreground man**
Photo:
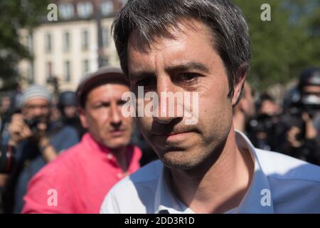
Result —
[[[77, 91], [64, 91], [58, 99], [37, 85], [3, 96], [2, 212], [99, 212], [116, 182], [155, 160], [134, 120], [124, 118], [117, 108], [126, 91], [129, 83], [120, 69], [101, 68], [87, 76]], [[233, 108], [235, 129], [257, 148], [320, 165], [320, 68], [302, 72], [282, 104], [257, 92], [244, 84], [242, 98]], [[104, 96], [105, 103], [96, 99]], [[138, 146], [130, 147], [132, 143]], [[58, 157], [60, 152], [64, 155]], [[64, 192], [61, 207], [46, 203], [48, 187]]]

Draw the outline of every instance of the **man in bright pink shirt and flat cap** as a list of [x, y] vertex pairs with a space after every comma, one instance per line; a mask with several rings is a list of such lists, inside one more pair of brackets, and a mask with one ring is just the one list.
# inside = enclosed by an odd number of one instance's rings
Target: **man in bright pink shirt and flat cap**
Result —
[[86, 133], [33, 177], [23, 213], [98, 213], [110, 188], [139, 169], [142, 152], [129, 145], [134, 120], [122, 115], [129, 83], [118, 68], [102, 68], [77, 89]]

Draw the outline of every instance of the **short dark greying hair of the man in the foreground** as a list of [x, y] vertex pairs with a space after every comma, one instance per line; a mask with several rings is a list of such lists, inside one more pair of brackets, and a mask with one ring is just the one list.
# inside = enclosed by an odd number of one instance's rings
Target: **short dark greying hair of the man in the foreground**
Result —
[[128, 75], [127, 45], [133, 30], [144, 45], [156, 37], [172, 37], [170, 28], [178, 28], [183, 19], [196, 19], [210, 28], [215, 48], [228, 73], [229, 93], [240, 74], [250, 66], [250, 37], [240, 9], [229, 0], [129, 0], [112, 24], [122, 70]]

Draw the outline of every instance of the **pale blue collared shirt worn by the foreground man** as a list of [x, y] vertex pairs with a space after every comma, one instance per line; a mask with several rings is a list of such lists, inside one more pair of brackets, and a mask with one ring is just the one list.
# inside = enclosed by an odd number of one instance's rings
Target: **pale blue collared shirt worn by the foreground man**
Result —
[[[255, 173], [239, 207], [226, 213], [320, 213], [320, 167], [253, 147], [236, 131], [240, 148], [250, 151]], [[193, 213], [171, 192], [160, 160], [115, 185], [100, 213]]]

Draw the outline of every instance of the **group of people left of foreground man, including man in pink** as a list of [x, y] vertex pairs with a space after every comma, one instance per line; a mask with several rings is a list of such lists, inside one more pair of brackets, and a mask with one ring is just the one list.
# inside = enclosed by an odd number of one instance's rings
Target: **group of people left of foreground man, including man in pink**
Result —
[[[13, 113], [6, 104], [3, 212], [97, 213], [112, 185], [136, 171], [140, 162], [154, 159], [139, 140], [133, 118], [122, 116], [126, 91], [129, 84], [122, 71], [107, 67], [88, 75], [77, 91], [60, 93], [56, 104], [50, 91], [38, 85], [23, 91]], [[144, 148], [145, 161], [134, 145]], [[50, 189], [63, 192], [60, 207], [47, 204]]]

